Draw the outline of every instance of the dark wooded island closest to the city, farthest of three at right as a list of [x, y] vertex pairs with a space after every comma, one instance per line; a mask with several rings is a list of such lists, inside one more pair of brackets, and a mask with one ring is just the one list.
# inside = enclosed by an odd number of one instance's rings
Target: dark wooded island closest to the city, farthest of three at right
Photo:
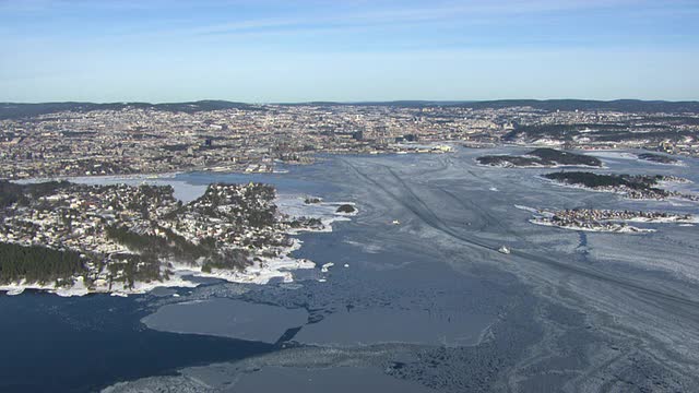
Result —
[[505, 168], [602, 166], [602, 162], [596, 157], [548, 147], [536, 148], [524, 155], [486, 155], [476, 158], [476, 162], [481, 165]]

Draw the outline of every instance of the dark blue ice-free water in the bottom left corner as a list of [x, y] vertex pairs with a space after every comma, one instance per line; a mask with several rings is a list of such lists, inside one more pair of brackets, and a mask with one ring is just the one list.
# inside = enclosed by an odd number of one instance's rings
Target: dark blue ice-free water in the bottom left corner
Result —
[[275, 348], [147, 330], [139, 322], [147, 314], [141, 306], [138, 297], [0, 295], [0, 392], [92, 392]]

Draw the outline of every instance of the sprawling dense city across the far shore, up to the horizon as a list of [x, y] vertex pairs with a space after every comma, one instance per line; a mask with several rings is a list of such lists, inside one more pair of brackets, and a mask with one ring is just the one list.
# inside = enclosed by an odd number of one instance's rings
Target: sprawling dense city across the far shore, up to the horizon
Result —
[[603, 104], [4, 104], [0, 178], [273, 171], [315, 153], [442, 153], [442, 142], [699, 154], [695, 106]]

